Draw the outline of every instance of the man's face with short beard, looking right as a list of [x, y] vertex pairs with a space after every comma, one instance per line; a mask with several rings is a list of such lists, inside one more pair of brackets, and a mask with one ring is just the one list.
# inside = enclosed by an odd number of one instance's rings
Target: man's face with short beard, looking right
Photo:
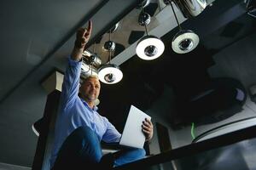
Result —
[[101, 83], [97, 78], [90, 77], [82, 83], [79, 90], [81, 97], [85, 101], [91, 102], [98, 98], [101, 90]]

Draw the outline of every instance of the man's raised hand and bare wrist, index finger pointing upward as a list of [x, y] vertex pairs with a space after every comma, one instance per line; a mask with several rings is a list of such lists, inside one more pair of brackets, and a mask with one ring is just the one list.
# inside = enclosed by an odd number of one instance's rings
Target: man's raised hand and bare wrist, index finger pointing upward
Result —
[[89, 40], [90, 40], [91, 31], [92, 31], [91, 20], [89, 20], [87, 28], [79, 28], [79, 30], [77, 31], [77, 36], [76, 36], [73, 52], [71, 54], [72, 59], [77, 60], [77, 61], [82, 59], [84, 47], [85, 47], [86, 43], [89, 42]]

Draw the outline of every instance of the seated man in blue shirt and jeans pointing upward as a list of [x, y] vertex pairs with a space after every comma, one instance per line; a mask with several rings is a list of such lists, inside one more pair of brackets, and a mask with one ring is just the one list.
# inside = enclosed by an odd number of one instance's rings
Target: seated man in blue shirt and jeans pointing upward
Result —
[[[80, 28], [77, 31], [73, 52], [68, 59], [50, 158], [53, 170], [77, 170], [84, 167], [107, 169], [145, 156], [143, 149], [121, 150], [117, 154], [102, 156], [101, 141], [119, 142], [121, 134], [106, 117], [96, 111], [95, 100], [101, 89], [99, 79], [96, 76], [87, 77], [79, 88], [82, 54], [91, 30], [92, 22], [89, 21], [87, 29]], [[152, 122], [145, 120], [142, 130], [146, 140], [152, 138]]]

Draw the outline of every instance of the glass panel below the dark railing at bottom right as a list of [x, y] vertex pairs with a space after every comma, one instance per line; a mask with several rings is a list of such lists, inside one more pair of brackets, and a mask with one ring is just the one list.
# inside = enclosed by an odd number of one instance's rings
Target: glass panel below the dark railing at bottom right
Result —
[[166, 161], [137, 170], [255, 170], [256, 139], [203, 151], [192, 156]]

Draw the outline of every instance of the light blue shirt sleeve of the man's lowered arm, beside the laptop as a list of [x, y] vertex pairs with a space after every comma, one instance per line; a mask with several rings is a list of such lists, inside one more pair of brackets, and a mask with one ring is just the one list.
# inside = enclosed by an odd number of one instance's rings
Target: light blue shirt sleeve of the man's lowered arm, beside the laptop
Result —
[[119, 142], [121, 138], [121, 134], [119, 131], [111, 124], [108, 122], [108, 119], [105, 119], [107, 123], [107, 130], [102, 136], [102, 140], [107, 143], [112, 143], [112, 142]]

